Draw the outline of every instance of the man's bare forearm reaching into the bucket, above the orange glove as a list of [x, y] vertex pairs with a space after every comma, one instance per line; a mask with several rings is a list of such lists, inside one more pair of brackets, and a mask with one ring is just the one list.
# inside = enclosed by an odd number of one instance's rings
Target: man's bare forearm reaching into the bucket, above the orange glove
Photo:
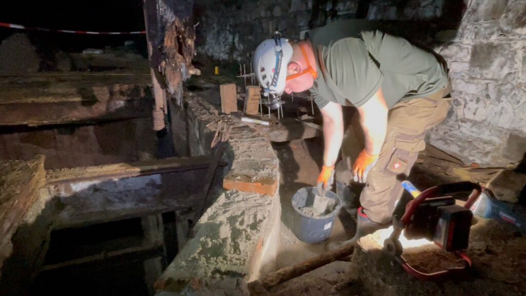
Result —
[[339, 104], [329, 102], [320, 109], [323, 117], [323, 165], [333, 166], [338, 159], [338, 153], [343, 140], [343, 115]]

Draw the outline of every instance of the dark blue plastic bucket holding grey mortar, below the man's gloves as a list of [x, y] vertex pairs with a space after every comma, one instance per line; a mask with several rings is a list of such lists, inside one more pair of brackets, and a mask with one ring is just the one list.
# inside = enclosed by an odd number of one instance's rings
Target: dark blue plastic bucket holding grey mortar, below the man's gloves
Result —
[[332, 231], [336, 214], [341, 208], [341, 200], [338, 195], [328, 191], [326, 194], [327, 198], [336, 200], [336, 205], [332, 212], [315, 217], [302, 213], [299, 209], [305, 206], [312, 206], [317, 193], [318, 189], [316, 187], [305, 187], [292, 196], [294, 234], [299, 240], [306, 243], [318, 243], [327, 239]]

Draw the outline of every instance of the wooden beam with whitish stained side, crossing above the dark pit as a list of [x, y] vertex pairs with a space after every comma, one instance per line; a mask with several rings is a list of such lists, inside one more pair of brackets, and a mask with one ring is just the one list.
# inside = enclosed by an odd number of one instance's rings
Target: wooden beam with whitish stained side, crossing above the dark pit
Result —
[[[64, 205], [53, 227], [195, 211], [209, 165], [210, 157], [196, 156], [51, 171], [47, 189]], [[219, 189], [223, 171], [215, 174], [213, 188]]]

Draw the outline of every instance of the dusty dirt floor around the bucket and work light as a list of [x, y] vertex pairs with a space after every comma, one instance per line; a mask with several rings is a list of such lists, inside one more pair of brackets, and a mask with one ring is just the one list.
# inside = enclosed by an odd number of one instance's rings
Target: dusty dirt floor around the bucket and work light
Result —
[[[355, 225], [345, 211], [340, 211], [331, 236], [326, 242], [307, 244], [298, 240], [291, 230], [294, 227], [294, 209], [290, 199], [298, 189], [316, 183], [322, 162], [322, 140], [313, 138], [272, 143], [272, 145], [280, 160], [282, 176], [279, 192], [282, 207], [281, 246], [277, 260], [278, 268], [282, 268], [325, 252], [328, 242], [351, 238]], [[464, 180], [484, 184], [496, 172], [496, 169], [480, 169], [476, 165], [462, 166], [456, 160], [429, 146], [420, 154], [409, 179], [423, 190], [432, 185]], [[383, 287], [384, 281], [392, 284], [396, 279], [401, 283], [402, 288], [389, 290], [393, 295], [426, 294], [433, 291], [440, 294], [452, 292], [472, 295], [524, 295], [526, 283], [521, 280], [526, 268], [524, 248], [526, 248], [526, 238], [510, 226], [498, 221], [477, 219], [477, 223], [472, 227], [468, 250], [473, 259], [473, 281], [459, 283], [458, 288], [456, 288], [457, 283], [452, 281], [441, 284], [420, 284], [404, 274], [398, 265], [391, 264], [392, 275], [389, 274], [387, 279], [382, 280], [382, 274], [378, 274], [380, 279], [378, 285]], [[427, 268], [428, 271], [436, 271], [440, 267], [453, 267], [456, 264], [454, 258], [449, 258], [450, 260], [448, 258], [447, 254], [434, 247], [421, 252], [407, 253], [408, 261], [414, 262], [423, 269]], [[375, 291], [372, 294], [388, 292], [380, 288], [363, 289], [363, 284], [358, 270], [352, 267], [351, 262], [338, 261], [285, 282], [275, 287], [272, 292], [275, 295], [352, 295], [371, 294], [371, 291]], [[478, 288], [468, 289], [471, 284], [477, 284]]]

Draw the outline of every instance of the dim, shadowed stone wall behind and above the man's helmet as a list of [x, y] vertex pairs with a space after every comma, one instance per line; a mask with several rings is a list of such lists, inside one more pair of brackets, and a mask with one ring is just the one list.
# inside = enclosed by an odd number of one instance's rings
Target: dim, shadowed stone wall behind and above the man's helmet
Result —
[[212, 2], [195, 4], [195, 22], [199, 22], [197, 52], [247, 64], [254, 48], [276, 30], [284, 36], [299, 38], [300, 31], [312, 26], [355, 17], [358, 8], [358, 0]]

